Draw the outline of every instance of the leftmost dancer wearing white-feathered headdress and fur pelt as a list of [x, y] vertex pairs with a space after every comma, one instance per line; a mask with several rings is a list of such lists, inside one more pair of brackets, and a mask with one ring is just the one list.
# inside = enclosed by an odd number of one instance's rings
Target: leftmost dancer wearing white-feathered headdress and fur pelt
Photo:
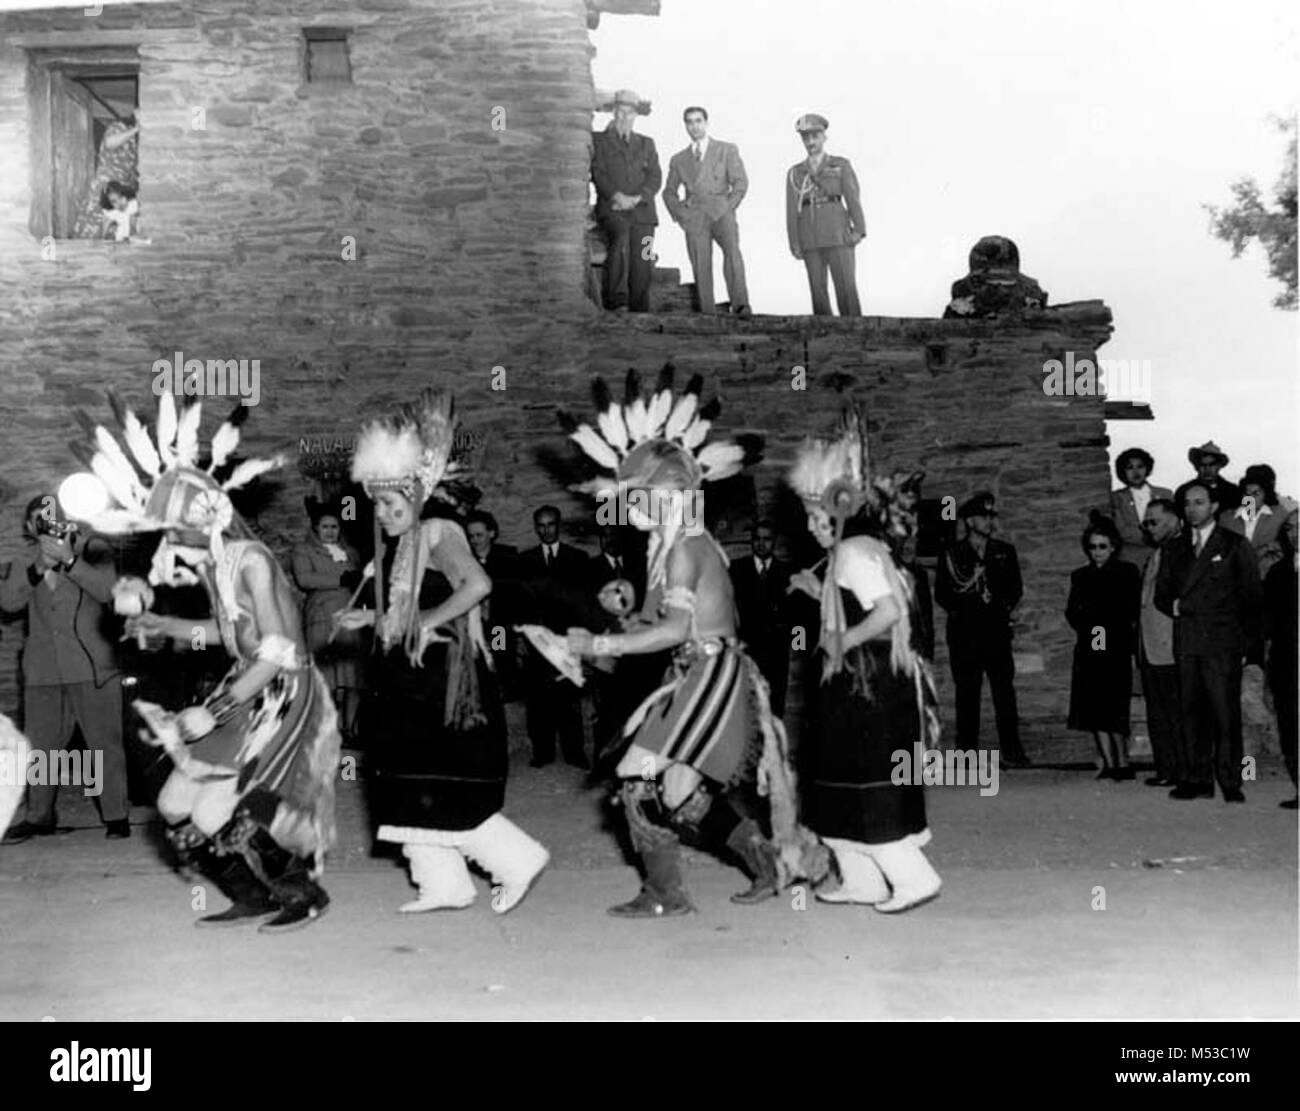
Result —
[[239, 444], [243, 405], [217, 429], [203, 468], [199, 403], [177, 412], [162, 394], [156, 442], [135, 413], [112, 395], [109, 403], [126, 450], [105, 425], [78, 413], [94, 447], [75, 451], [117, 503], [86, 520], [104, 533], [162, 531], [150, 582], [202, 582], [213, 612], [212, 620], [191, 621], [139, 612], [136, 604], [127, 633], [191, 647], [220, 643], [235, 660], [211, 698], [178, 715], [135, 703], [153, 743], [176, 763], [157, 799], [168, 837], [234, 903], [202, 924], [278, 908], [263, 930], [306, 925], [329, 904], [316, 877], [334, 839], [338, 720], [307, 654], [294, 589], [230, 502], [231, 490], [282, 460], [247, 460], [217, 478]]

